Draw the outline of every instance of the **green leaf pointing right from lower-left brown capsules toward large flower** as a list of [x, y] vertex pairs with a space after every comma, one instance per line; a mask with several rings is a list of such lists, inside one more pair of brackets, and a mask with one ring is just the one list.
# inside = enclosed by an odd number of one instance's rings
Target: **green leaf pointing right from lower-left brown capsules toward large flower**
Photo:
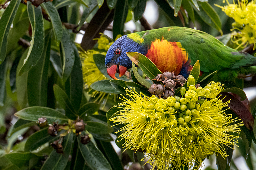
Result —
[[100, 122], [92, 122], [92, 121], [85, 121], [85, 129], [88, 132], [96, 133], [96, 134], [108, 134], [113, 132], [113, 128], [109, 127], [107, 123], [100, 123]]

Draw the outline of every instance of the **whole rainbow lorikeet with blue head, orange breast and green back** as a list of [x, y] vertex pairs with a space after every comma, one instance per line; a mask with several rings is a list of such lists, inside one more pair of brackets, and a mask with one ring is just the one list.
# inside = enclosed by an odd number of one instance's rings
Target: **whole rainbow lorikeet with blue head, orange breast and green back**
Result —
[[148, 57], [162, 73], [174, 71], [175, 75], [185, 78], [197, 60], [202, 73], [220, 70], [231, 71], [235, 76], [256, 65], [256, 57], [229, 48], [210, 34], [186, 27], [164, 27], [131, 33], [116, 40], [105, 59], [111, 78], [117, 79], [116, 73], [121, 77], [132, 67], [126, 55], [131, 51]]

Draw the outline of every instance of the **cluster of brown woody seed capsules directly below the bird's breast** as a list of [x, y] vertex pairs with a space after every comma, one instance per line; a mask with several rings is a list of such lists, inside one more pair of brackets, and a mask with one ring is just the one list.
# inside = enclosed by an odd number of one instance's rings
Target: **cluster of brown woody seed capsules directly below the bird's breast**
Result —
[[184, 85], [186, 79], [181, 76], [175, 76], [173, 72], [164, 72], [163, 74], [157, 74], [153, 79], [162, 84], [153, 84], [149, 88], [149, 92], [158, 98], [167, 99], [169, 96], [174, 96], [174, 89], [178, 86]]

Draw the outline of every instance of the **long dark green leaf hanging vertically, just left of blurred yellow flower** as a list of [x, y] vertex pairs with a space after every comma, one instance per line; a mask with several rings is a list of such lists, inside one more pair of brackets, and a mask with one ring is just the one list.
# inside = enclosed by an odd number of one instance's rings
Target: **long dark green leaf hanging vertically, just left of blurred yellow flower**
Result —
[[70, 74], [70, 89], [68, 90], [72, 106], [75, 108], [75, 110], [78, 110], [83, 96], [84, 81], [81, 60], [78, 54], [78, 50], [74, 44], [73, 48], [75, 53], [75, 62]]

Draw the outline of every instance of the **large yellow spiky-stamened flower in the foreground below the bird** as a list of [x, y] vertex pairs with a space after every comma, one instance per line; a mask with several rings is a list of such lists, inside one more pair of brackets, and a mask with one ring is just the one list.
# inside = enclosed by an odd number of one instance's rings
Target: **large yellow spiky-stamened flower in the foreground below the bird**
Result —
[[159, 170], [183, 169], [183, 166], [193, 169], [195, 162], [200, 166], [208, 155], [216, 153], [227, 157], [222, 145], [238, 142], [239, 127], [243, 123], [225, 113], [228, 108], [223, 107], [227, 107], [229, 101], [222, 103], [216, 98], [224, 85], [211, 82], [197, 91], [193, 76], [188, 80], [191, 80], [189, 89], [183, 88], [185, 95], [180, 101], [172, 96], [165, 100], [155, 95], [147, 97], [134, 89], [126, 89], [131, 99], [123, 97], [118, 106], [123, 110], [109, 119], [116, 125], [124, 125], [119, 131], [119, 137], [125, 141], [123, 147], [145, 152], [151, 169], [155, 166]]

